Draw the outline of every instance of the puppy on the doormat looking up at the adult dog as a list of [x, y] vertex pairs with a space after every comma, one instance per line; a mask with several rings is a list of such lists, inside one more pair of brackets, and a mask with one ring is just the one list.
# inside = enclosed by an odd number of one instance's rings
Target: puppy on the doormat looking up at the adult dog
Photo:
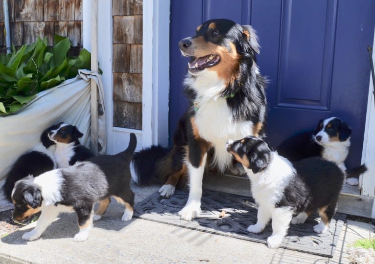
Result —
[[[289, 223], [303, 223], [314, 211], [321, 216], [314, 231], [327, 232], [345, 178], [335, 163], [311, 157], [292, 164], [254, 136], [229, 140], [227, 150], [242, 163], [258, 203], [258, 220], [248, 227], [249, 232], [261, 232], [271, 219], [272, 235], [267, 245], [277, 248]], [[293, 218], [295, 213], [298, 215]]]

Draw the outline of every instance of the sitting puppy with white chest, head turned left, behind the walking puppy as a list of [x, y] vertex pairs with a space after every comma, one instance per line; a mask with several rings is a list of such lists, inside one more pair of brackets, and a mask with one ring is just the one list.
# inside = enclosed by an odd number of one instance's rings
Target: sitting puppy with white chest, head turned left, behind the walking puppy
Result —
[[91, 150], [79, 142], [83, 134], [76, 126], [59, 123], [48, 136], [56, 143], [55, 157], [58, 168], [66, 168], [77, 161], [84, 161], [94, 156]]

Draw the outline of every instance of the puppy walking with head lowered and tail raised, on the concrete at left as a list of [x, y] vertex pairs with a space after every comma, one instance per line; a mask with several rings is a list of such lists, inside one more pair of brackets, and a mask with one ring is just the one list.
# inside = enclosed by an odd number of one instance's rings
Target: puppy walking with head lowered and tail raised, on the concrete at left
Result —
[[[35, 228], [24, 233], [24, 240], [36, 240], [61, 212], [76, 212], [79, 233], [74, 241], [85, 241], [93, 227], [105, 213], [110, 197], [125, 205], [123, 221], [133, 216], [134, 193], [130, 188], [129, 164], [137, 145], [135, 134], [130, 134], [128, 148], [116, 155], [99, 155], [73, 166], [56, 169], [37, 177], [16, 182], [12, 191], [15, 205], [13, 219], [24, 220], [42, 211]], [[94, 213], [94, 203], [99, 207]]]

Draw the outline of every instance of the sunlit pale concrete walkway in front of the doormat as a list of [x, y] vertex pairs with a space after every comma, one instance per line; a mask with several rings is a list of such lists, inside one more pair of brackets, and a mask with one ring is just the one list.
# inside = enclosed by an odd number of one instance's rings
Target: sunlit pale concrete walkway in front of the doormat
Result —
[[[137, 187], [136, 202], [159, 186]], [[78, 232], [75, 214], [62, 214], [36, 241], [25, 242], [23, 233], [33, 224], [0, 241], [0, 264], [109, 264], [109, 263], [349, 263], [348, 246], [359, 238], [373, 238], [371, 224], [346, 221], [332, 259], [287, 249], [268, 249], [265, 244], [212, 235], [158, 222], [133, 218], [122, 222], [123, 208], [111, 202], [104, 217], [94, 222], [86, 242], [73, 242]]]

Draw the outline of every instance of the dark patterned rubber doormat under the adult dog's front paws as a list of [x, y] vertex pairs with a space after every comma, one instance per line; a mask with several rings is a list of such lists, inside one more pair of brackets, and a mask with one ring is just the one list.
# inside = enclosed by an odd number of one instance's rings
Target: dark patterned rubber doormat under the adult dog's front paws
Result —
[[[266, 243], [272, 234], [270, 223], [259, 234], [247, 231], [250, 224], [257, 222], [257, 205], [253, 198], [204, 190], [202, 213], [192, 221], [181, 220], [177, 215], [187, 200], [187, 192], [177, 191], [168, 199], [156, 192], [136, 204], [134, 216], [259, 243]], [[332, 258], [345, 217], [344, 214], [336, 214], [325, 234], [316, 234], [312, 230], [312, 227], [319, 223], [315, 217], [308, 218], [303, 224], [290, 225], [281, 247]]]

